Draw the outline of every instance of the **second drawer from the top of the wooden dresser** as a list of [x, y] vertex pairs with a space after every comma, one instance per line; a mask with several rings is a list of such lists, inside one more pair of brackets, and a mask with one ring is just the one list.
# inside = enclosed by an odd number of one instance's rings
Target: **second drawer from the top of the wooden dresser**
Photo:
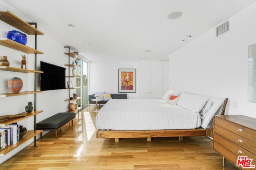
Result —
[[223, 129], [218, 125], [214, 125], [214, 137], [216, 134], [228, 139], [230, 142], [238, 145], [239, 147], [242, 147], [246, 150], [250, 150], [250, 152], [252, 152], [253, 154], [256, 154], [256, 143], [240, 135], [232, 133], [231, 131]]

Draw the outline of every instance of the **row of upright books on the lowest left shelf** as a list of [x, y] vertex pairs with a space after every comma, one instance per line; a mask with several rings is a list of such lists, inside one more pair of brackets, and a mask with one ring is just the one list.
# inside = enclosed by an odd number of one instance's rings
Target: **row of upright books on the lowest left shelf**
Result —
[[20, 130], [17, 123], [0, 127], [0, 150], [20, 141]]

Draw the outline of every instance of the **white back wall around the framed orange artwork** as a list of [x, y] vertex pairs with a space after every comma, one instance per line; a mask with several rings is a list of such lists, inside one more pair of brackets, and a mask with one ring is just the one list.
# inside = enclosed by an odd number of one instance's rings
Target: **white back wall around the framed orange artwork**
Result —
[[[90, 91], [88, 94], [103, 91], [118, 93], [118, 68], [136, 68], [136, 77], [138, 77], [138, 62], [91, 63]], [[138, 98], [138, 84], [136, 84], [136, 93], [127, 93], [127, 97], [129, 99]]]

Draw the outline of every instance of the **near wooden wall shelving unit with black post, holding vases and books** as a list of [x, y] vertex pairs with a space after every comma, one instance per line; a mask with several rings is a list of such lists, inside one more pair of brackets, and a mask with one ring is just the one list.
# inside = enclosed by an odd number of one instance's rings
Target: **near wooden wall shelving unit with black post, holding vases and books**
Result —
[[[16, 27], [20, 31], [23, 31], [24, 33], [28, 35], [43, 35], [41, 31], [37, 29], [37, 24], [36, 23], [31, 23], [32, 25], [35, 25], [33, 27], [31, 24], [27, 23], [26, 21], [18, 18], [16, 15], [12, 14], [8, 10], [0, 10], [0, 20], [4, 21], [5, 23], [8, 23], [9, 25], [12, 25], [13, 27]], [[35, 66], [36, 66], [36, 54], [43, 54], [43, 52], [38, 51], [37, 48], [37, 38], [35, 38], [35, 49], [28, 47], [26, 45], [17, 43], [15, 41], [12, 41], [11, 39], [7, 38], [0, 38], [0, 45], [15, 49], [24, 53], [28, 54], [35, 54]], [[10, 72], [22, 72], [22, 73], [43, 73], [42, 71], [38, 70], [26, 70], [26, 69], [21, 69], [21, 68], [15, 68], [15, 67], [10, 67], [10, 66], [0, 66], [0, 70], [2, 71], [10, 71]], [[28, 95], [28, 94], [34, 94], [35, 95], [35, 101], [34, 101], [34, 111], [31, 113], [27, 113], [26, 116], [24, 117], [19, 117], [19, 118], [14, 118], [14, 119], [7, 119], [7, 120], [2, 120], [0, 121], [0, 127], [4, 127], [6, 125], [9, 125], [11, 123], [15, 123], [17, 121], [27, 119], [28, 117], [34, 117], [34, 130], [29, 130], [27, 133], [20, 139], [20, 141], [16, 144], [9, 145], [5, 147], [3, 150], [0, 150], [0, 156], [3, 156], [7, 154], [8, 152], [16, 149], [17, 147], [21, 146], [24, 144], [26, 141], [32, 139], [34, 137], [34, 146], [36, 146], [36, 135], [39, 135], [42, 130], [36, 130], [36, 115], [38, 113], [41, 113], [43, 111], [38, 111], [36, 110], [36, 94], [37, 93], [42, 93], [42, 91], [36, 91], [36, 78], [34, 80], [34, 92], [19, 92], [18, 94], [12, 94], [12, 93], [5, 93], [5, 94], [0, 94], [0, 97], [12, 97], [12, 96], [21, 96], [21, 95]], [[22, 112], [24, 113], [24, 112]]]

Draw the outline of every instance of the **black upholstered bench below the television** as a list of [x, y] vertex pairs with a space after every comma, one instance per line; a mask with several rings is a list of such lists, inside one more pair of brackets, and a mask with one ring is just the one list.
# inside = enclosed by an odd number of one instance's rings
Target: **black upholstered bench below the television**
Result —
[[[36, 123], [36, 129], [42, 129], [45, 131], [55, 131], [55, 137], [58, 138], [58, 130], [61, 132], [61, 128], [66, 125], [67, 123], [70, 123], [71, 126], [73, 126], [73, 119], [75, 119], [76, 113], [68, 113], [68, 112], [62, 112], [57, 113], [56, 115], [52, 115], [51, 117], [48, 117], [38, 123]], [[40, 133], [40, 137], [42, 139], [42, 132]]]

